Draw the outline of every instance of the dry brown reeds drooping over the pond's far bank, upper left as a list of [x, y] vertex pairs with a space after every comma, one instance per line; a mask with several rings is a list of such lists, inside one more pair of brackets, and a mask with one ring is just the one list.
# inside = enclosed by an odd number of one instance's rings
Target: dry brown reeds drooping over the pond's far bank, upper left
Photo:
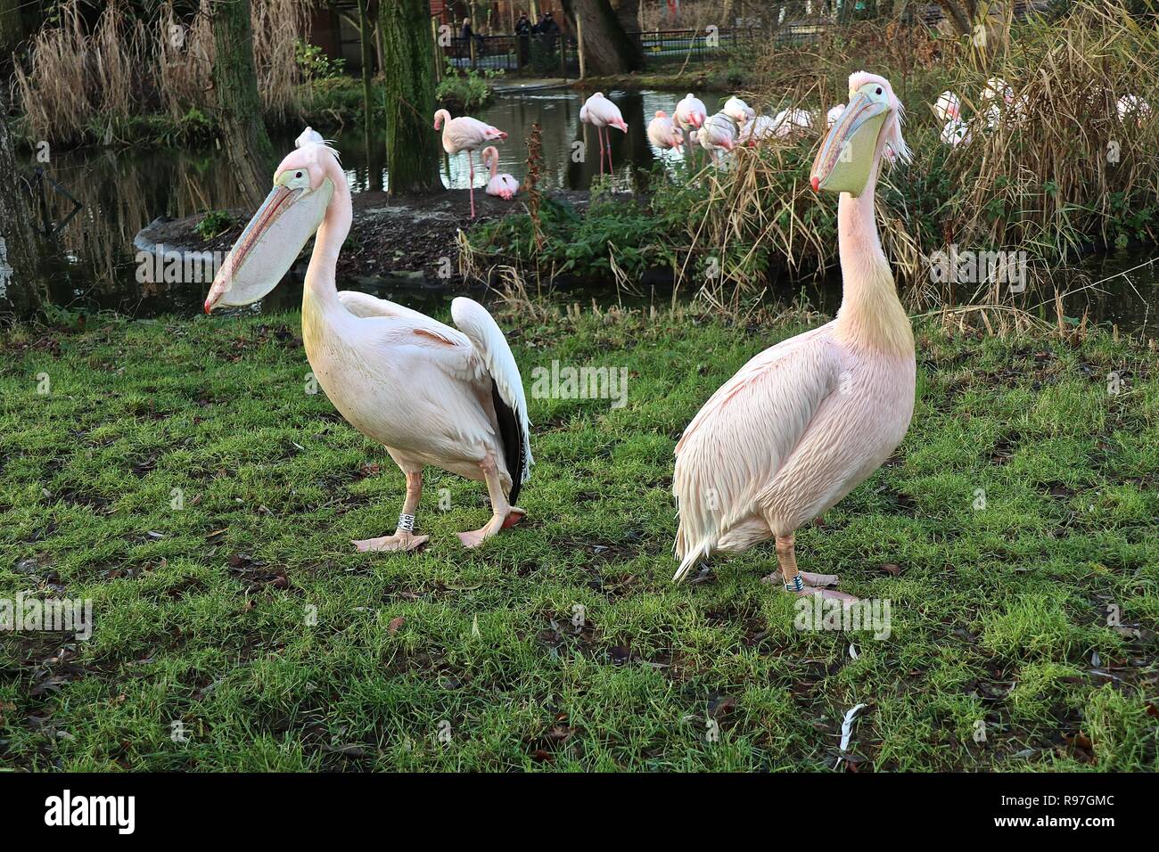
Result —
[[[307, 38], [313, 0], [250, 0], [257, 86], [268, 117], [299, 110], [301, 68], [294, 44]], [[60, 6], [60, 21], [31, 39], [27, 67], [13, 77], [13, 100], [24, 132], [73, 144], [94, 126], [160, 110], [174, 119], [191, 109], [212, 115], [214, 60], [212, 2], [202, 0], [191, 20], [168, 0], [153, 21], [134, 16], [124, 0], [110, 0], [92, 28], [81, 0]]]

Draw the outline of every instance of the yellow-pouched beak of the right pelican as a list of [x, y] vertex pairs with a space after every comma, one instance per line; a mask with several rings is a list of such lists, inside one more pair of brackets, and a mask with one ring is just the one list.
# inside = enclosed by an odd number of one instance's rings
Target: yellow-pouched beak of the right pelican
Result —
[[815, 192], [848, 192], [857, 197], [865, 191], [889, 111], [889, 104], [860, 92], [850, 99], [812, 161], [809, 177]]

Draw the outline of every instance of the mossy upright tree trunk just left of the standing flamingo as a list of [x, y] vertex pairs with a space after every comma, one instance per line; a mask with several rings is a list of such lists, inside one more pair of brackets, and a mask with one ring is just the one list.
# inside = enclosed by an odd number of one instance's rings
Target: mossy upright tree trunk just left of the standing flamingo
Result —
[[428, 0], [384, 0], [382, 88], [386, 103], [386, 165], [391, 194], [438, 184], [435, 116], [435, 44]]

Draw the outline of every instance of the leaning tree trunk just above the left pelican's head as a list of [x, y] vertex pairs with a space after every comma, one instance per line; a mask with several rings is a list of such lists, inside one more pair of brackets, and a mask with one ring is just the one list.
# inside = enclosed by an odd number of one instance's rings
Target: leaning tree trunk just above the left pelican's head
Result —
[[256, 207], [270, 191], [274, 146], [262, 122], [262, 101], [254, 71], [249, 0], [213, 5], [213, 88], [217, 89], [221, 144], [234, 180]]

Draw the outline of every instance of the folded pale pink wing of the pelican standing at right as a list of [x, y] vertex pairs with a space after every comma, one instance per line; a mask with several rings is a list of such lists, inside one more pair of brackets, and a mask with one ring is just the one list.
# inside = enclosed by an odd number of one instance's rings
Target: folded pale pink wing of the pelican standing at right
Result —
[[712, 553], [729, 527], [753, 515], [758, 495], [839, 386], [830, 330], [829, 325], [815, 328], [753, 357], [684, 430], [672, 478], [681, 560], [673, 581]]

